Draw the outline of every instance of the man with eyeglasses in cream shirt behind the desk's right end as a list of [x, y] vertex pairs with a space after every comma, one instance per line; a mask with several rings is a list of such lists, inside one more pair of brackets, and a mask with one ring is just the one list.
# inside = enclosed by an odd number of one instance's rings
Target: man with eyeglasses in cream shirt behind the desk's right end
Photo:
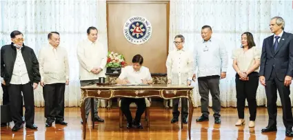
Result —
[[[185, 38], [183, 35], [176, 35], [174, 44], [176, 50], [168, 54], [166, 61], [168, 84], [190, 85], [193, 73], [193, 57], [190, 51], [183, 48]], [[173, 118], [171, 123], [179, 121], [179, 99], [173, 99]], [[181, 108], [183, 108], [182, 122], [188, 123], [188, 99], [181, 98]], [[191, 114], [192, 115], [192, 114]]]

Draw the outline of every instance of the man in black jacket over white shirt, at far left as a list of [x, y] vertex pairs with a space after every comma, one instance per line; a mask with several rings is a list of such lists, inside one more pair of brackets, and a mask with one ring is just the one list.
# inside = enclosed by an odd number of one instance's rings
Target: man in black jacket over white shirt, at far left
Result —
[[34, 50], [23, 44], [23, 34], [14, 30], [10, 34], [12, 43], [1, 48], [1, 77], [3, 85], [8, 88], [10, 114], [14, 121], [12, 131], [23, 128], [19, 108], [21, 92], [26, 108], [26, 128], [37, 130], [34, 125], [34, 89], [39, 85], [41, 76], [39, 62]]

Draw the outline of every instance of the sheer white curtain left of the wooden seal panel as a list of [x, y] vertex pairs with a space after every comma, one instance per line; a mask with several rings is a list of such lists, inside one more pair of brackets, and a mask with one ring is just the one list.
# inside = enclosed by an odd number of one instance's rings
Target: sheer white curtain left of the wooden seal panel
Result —
[[[99, 41], [107, 47], [105, 0], [54, 0], [54, 1], [0, 1], [0, 45], [10, 43], [10, 32], [23, 32], [26, 46], [38, 55], [43, 44], [48, 43], [51, 31], [60, 33], [61, 43], [68, 51], [70, 84], [65, 88], [65, 106], [80, 105], [79, 62], [77, 43], [87, 38], [86, 30], [95, 26], [99, 30]], [[2, 101], [2, 89], [0, 99]], [[42, 88], [34, 90], [35, 106], [44, 106]], [[101, 101], [101, 106], [105, 106]]]

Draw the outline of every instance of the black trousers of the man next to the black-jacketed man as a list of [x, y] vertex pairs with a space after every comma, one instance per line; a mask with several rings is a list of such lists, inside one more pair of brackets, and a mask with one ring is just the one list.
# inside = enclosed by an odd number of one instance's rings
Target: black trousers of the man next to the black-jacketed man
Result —
[[46, 84], [43, 87], [47, 123], [52, 123], [55, 119], [64, 121], [64, 92], [65, 83]]

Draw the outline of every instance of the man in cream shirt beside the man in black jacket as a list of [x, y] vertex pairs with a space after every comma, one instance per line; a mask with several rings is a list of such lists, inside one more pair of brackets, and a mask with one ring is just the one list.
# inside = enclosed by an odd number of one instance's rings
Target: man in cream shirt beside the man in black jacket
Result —
[[59, 46], [59, 32], [50, 32], [48, 41], [39, 51], [46, 127], [51, 127], [54, 121], [55, 124], [67, 126], [64, 121], [64, 92], [65, 85], [69, 84], [67, 50]]

